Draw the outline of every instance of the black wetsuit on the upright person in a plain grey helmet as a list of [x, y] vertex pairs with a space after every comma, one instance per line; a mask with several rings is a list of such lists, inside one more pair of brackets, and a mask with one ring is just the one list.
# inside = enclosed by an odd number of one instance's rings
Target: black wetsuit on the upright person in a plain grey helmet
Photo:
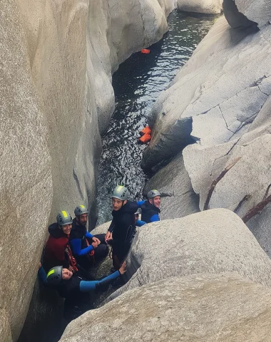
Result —
[[135, 212], [138, 210], [136, 202], [127, 201], [121, 209], [112, 211], [113, 220], [109, 232], [112, 232], [113, 255], [122, 262], [131, 247], [136, 232]]

